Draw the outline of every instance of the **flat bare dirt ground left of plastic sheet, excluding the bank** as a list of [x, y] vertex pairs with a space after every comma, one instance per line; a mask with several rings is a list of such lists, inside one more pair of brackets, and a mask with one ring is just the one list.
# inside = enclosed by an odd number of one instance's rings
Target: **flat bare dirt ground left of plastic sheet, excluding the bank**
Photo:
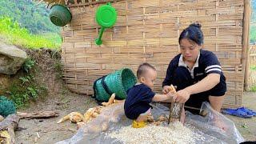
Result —
[[[23, 112], [34, 112], [39, 110], [55, 110], [59, 116], [48, 119], [21, 119], [19, 126], [25, 130], [15, 132], [17, 143], [54, 143], [67, 138], [71, 138], [77, 131], [75, 123], [62, 122], [57, 124], [58, 120], [72, 111], [78, 111], [84, 114], [90, 107], [97, 106], [93, 98], [85, 95], [71, 94], [68, 90], [62, 91], [62, 94], [52, 98], [47, 98], [38, 105], [30, 106]], [[39, 137], [38, 137], [39, 135]]]

